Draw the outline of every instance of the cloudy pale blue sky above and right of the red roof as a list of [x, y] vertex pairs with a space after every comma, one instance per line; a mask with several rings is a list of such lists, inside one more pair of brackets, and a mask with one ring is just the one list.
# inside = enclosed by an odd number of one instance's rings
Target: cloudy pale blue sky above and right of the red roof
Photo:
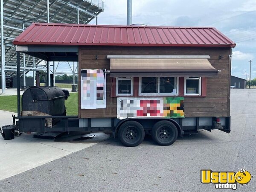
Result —
[[[98, 24], [126, 25], [127, 0], [104, 2]], [[256, 78], [256, 0], [133, 0], [132, 10], [132, 23], [217, 28], [236, 43], [232, 75], [245, 79], [252, 60], [251, 74]]]

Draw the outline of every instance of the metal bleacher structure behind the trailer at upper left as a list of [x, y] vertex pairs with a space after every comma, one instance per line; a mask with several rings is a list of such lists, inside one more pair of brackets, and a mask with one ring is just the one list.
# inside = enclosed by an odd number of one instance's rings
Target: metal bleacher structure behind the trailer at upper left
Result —
[[[16, 76], [16, 51], [12, 41], [31, 23], [79, 23], [87, 24], [99, 13], [104, 11], [102, 0], [0, 0], [1, 6], [1, 84], [5, 93], [6, 77]], [[5, 54], [3, 54], [3, 52]], [[52, 73], [55, 75], [59, 63], [52, 63]], [[68, 63], [74, 76], [77, 69]], [[26, 86], [26, 73], [36, 70], [46, 70], [45, 64], [38, 58], [26, 54], [20, 55], [20, 69], [23, 84]], [[60, 74], [60, 73], [59, 73]], [[64, 74], [64, 73], [61, 73]], [[1, 85], [0, 84], [0, 85]]]

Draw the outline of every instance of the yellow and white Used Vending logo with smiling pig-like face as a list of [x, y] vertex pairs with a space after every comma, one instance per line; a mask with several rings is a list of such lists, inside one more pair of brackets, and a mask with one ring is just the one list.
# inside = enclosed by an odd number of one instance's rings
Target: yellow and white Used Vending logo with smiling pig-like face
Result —
[[233, 189], [236, 190], [237, 183], [248, 185], [253, 176], [245, 169], [238, 172], [213, 172], [210, 169], [201, 170], [201, 183], [212, 183], [215, 189]]

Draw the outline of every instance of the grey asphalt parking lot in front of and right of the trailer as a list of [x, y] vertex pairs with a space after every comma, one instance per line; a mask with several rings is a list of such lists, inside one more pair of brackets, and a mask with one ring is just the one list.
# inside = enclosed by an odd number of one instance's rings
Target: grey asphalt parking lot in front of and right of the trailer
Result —
[[[231, 133], [185, 135], [171, 146], [150, 137], [137, 147], [109, 139], [0, 181], [1, 191], [217, 191], [200, 182], [200, 170], [254, 178], [238, 191], [256, 189], [256, 90], [231, 90]], [[83, 141], [81, 141], [83, 142]], [[17, 157], [18, 158], [18, 157]], [[228, 191], [232, 189], [219, 189]]]

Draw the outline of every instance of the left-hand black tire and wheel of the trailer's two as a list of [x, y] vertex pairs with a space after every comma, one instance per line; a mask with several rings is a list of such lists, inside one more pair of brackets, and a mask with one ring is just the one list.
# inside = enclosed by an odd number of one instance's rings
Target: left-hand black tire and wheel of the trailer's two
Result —
[[143, 126], [136, 121], [124, 122], [118, 130], [118, 138], [128, 147], [135, 147], [143, 142], [145, 131]]

